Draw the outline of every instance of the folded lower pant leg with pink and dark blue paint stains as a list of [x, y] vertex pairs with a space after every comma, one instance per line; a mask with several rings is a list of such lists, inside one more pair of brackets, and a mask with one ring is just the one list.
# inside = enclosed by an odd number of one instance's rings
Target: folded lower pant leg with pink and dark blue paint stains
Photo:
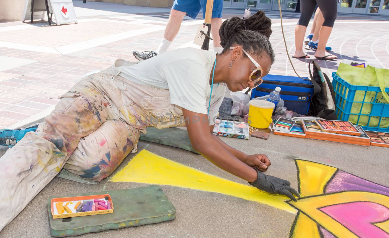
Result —
[[83, 178], [100, 182], [108, 177], [138, 143], [140, 131], [119, 120], [107, 120], [81, 138], [63, 168]]

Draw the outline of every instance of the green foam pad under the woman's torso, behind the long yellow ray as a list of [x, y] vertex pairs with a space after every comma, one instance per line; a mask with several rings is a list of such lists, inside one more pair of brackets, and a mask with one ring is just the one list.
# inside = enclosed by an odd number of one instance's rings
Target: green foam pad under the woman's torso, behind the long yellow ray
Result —
[[154, 142], [161, 145], [170, 145], [172, 147], [181, 148], [187, 151], [199, 154], [193, 149], [187, 130], [170, 127], [165, 129], [157, 129], [148, 127], [146, 134], [140, 135], [140, 140]]

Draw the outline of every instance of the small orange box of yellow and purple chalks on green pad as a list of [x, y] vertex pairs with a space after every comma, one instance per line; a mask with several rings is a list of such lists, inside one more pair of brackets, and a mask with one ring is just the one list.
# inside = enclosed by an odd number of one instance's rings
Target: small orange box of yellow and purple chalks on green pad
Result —
[[109, 194], [53, 198], [51, 200], [51, 214], [53, 215], [53, 219], [113, 212], [114, 205]]

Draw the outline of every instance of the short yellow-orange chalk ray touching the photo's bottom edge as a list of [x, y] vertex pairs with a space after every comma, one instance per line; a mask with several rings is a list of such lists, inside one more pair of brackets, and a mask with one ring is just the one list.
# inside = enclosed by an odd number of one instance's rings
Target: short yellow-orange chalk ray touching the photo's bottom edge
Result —
[[299, 213], [296, 217], [296, 224], [293, 229], [293, 233], [289, 236], [290, 238], [298, 237], [321, 237], [317, 223], [312, 221], [307, 215]]

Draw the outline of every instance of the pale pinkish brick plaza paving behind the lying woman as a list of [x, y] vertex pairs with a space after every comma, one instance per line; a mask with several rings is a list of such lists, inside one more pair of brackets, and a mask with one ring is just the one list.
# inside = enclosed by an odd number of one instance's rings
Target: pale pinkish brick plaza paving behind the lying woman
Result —
[[[77, 24], [0, 23], [2, 65], [7, 65], [8, 59], [31, 61], [0, 71], [0, 129], [15, 128], [44, 117], [53, 110], [58, 96], [75, 82], [93, 71], [107, 68], [115, 59], [134, 61], [133, 50], [156, 50], [170, 11], [100, 2], [83, 5], [78, 0], [74, 5], [79, 19]], [[265, 12], [272, 19], [270, 41], [276, 55], [270, 73], [295, 75], [287, 60], [279, 12]], [[242, 14], [243, 10], [223, 10], [223, 18]], [[283, 12], [284, 33], [291, 56], [298, 17], [294, 12]], [[336, 71], [342, 59], [389, 68], [389, 33], [385, 32], [388, 20], [388, 16], [339, 14], [327, 44], [338, 60], [315, 61], [328, 75]], [[170, 49], [193, 46], [191, 41], [202, 21], [185, 17]], [[313, 58], [313, 51], [307, 53]], [[292, 62], [301, 76], [308, 75], [309, 59], [292, 59]]]

